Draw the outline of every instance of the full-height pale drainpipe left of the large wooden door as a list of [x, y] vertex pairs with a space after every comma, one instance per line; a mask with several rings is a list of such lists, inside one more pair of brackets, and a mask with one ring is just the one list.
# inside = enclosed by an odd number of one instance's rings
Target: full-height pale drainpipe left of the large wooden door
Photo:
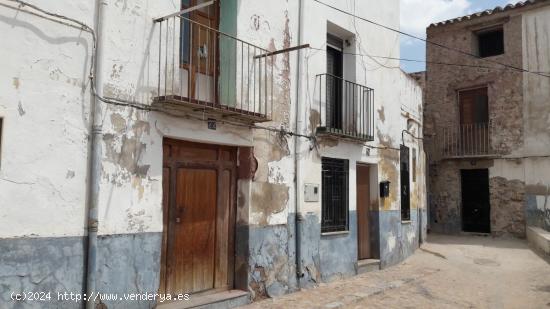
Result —
[[[98, 72], [101, 72], [101, 58], [103, 49], [102, 35], [102, 13], [103, 7], [107, 3], [103, 0], [96, 1], [94, 29], [97, 35], [95, 63], [93, 68], [93, 76], [90, 76], [92, 83], [96, 87], [101, 88], [102, 78]], [[103, 20], [104, 22], [104, 20]], [[97, 292], [97, 230], [99, 226], [98, 220], [98, 204], [99, 204], [99, 179], [101, 177], [101, 138], [102, 138], [102, 122], [101, 122], [101, 101], [99, 96], [92, 94], [90, 99], [90, 122], [92, 123], [92, 134], [90, 142], [90, 157], [88, 164], [88, 247], [87, 247], [87, 267], [86, 267], [86, 309], [94, 309], [95, 303], [90, 301], [91, 295]]]

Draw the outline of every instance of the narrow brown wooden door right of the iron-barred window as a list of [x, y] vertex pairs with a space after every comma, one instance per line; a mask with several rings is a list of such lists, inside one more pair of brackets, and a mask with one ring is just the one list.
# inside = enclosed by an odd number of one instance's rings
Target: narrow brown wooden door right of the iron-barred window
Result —
[[357, 241], [359, 260], [372, 258], [370, 247], [370, 173], [366, 165], [357, 165]]

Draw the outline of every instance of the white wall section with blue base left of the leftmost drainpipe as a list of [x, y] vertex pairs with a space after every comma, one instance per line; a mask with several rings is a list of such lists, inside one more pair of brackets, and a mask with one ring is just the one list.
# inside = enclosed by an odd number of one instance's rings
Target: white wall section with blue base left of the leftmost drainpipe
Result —
[[[91, 1], [29, 2], [93, 23]], [[58, 308], [10, 296], [83, 291], [92, 40], [5, 6], [0, 33], [0, 307]]]

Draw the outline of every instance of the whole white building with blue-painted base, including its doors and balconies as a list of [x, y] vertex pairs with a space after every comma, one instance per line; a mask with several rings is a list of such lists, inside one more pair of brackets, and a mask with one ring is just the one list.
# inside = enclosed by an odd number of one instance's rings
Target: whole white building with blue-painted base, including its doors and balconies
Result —
[[411, 255], [422, 92], [345, 13], [399, 1], [327, 2], [0, 0], [0, 308], [235, 306]]

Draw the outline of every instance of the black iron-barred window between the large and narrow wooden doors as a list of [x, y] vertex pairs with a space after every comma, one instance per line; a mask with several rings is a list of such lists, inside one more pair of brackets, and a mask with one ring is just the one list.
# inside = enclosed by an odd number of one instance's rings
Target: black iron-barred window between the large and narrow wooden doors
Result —
[[348, 160], [322, 158], [322, 233], [348, 230], [348, 170]]

